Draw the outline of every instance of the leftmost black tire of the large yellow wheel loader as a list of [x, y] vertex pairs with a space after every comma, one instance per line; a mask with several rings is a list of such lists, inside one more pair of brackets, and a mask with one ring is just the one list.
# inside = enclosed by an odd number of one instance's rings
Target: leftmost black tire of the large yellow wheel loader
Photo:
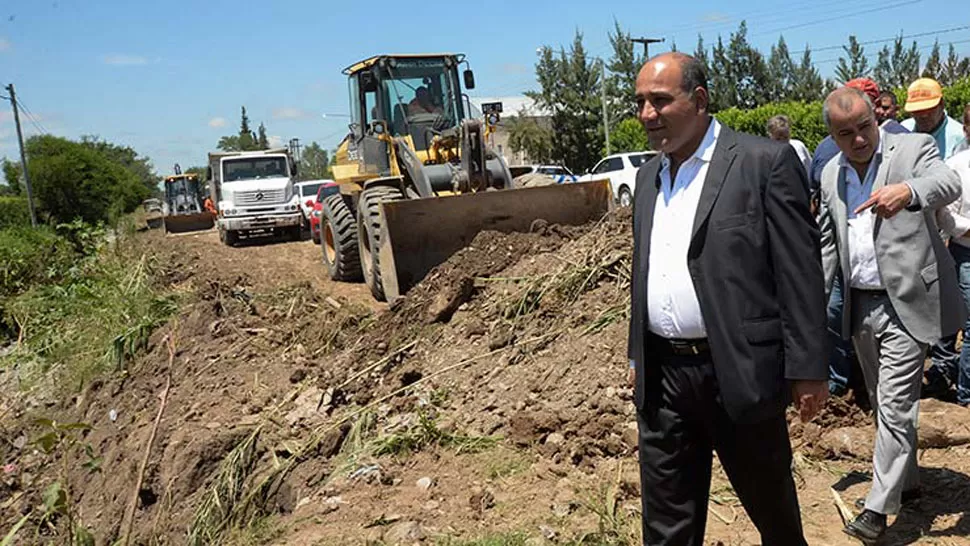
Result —
[[359, 281], [360, 250], [357, 246], [357, 220], [339, 194], [323, 202], [323, 221], [320, 223], [320, 246], [323, 264], [335, 281]]

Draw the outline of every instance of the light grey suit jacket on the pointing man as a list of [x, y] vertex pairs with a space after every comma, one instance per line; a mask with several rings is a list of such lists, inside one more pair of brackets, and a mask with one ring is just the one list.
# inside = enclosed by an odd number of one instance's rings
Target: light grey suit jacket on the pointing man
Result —
[[[883, 158], [872, 190], [907, 182], [915, 204], [889, 219], [876, 217], [873, 240], [883, 286], [899, 320], [923, 343], [955, 333], [963, 326], [966, 308], [957, 285], [953, 258], [940, 238], [935, 211], [961, 195], [960, 178], [923, 134], [882, 134]], [[844, 286], [850, 273], [848, 210], [845, 176], [838, 154], [822, 171], [822, 266], [826, 292], [841, 269]], [[842, 336], [851, 332], [852, 290], [843, 290]]]

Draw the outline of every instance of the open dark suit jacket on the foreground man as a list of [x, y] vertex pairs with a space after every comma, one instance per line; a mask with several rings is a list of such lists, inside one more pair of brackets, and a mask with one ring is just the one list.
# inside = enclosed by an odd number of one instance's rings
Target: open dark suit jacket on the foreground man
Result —
[[[650, 233], [660, 157], [637, 173], [629, 356], [635, 401], [659, 396], [648, 335]], [[721, 402], [738, 422], [784, 411], [789, 380], [828, 377], [819, 232], [805, 169], [784, 143], [722, 126], [701, 191], [687, 266], [707, 328]]]

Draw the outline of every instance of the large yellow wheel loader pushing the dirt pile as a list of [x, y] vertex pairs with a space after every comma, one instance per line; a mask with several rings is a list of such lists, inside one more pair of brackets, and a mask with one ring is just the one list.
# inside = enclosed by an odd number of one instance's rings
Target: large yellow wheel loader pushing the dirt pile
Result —
[[[459, 66], [465, 70], [459, 80]], [[393, 300], [482, 230], [579, 225], [612, 206], [609, 183], [512, 189], [487, 145], [498, 116], [473, 118], [462, 54], [379, 55], [344, 70], [350, 132], [337, 148], [340, 192], [323, 203], [323, 262], [338, 281], [363, 278]]]

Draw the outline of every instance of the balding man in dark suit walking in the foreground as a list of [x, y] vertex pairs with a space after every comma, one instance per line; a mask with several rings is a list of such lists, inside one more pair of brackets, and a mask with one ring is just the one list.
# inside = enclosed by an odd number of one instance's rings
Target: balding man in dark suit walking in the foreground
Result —
[[661, 153], [634, 198], [629, 357], [644, 543], [703, 544], [716, 451], [765, 546], [804, 545], [785, 408], [828, 395], [825, 291], [791, 146], [708, 113], [703, 66], [654, 57], [636, 82]]

